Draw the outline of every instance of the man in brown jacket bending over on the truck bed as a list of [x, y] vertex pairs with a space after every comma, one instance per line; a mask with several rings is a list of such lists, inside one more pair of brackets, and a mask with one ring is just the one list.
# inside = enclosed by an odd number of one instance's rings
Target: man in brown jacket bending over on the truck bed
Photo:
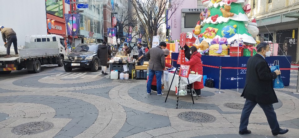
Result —
[[4, 46], [6, 47], [6, 56], [4, 58], [10, 58], [10, 46], [13, 43], [13, 48], [15, 49], [16, 55], [18, 55], [18, 47], [17, 47], [17, 34], [12, 28], [5, 28], [4, 26], [0, 26], [0, 31], [2, 34], [2, 39], [4, 41]]

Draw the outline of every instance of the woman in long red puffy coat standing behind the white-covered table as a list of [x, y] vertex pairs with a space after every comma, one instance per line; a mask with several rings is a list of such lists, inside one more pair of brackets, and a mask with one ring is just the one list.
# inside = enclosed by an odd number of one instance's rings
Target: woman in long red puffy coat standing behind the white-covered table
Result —
[[[200, 59], [202, 55], [197, 52], [197, 48], [192, 46], [190, 48], [191, 57], [190, 60], [186, 62], [186, 65], [191, 66], [191, 71], [197, 72], [198, 74], [202, 75], [202, 60]], [[200, 96], [200, 89], [203, 88], [203, 80], [201, 82], [194, 82], [194, 90], [197, 96]], [[192, 94], [196, 96], [195, 93]]]

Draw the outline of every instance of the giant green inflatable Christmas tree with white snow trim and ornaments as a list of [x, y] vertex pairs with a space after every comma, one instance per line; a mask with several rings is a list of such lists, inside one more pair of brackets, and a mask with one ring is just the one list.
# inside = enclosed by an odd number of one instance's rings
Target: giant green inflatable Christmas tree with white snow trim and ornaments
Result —
[[246, 13], [250, 12], [251, 7], [244, 2], [244, 0], [203, 0], [206, 9], [200, 15], [203, 21], [199, 37], [204, 38], [206, 42], [210, 42], [213, 38], [224, 37], [229, 43], [242, 39], [243, 42], [255, 44], [256, 41], [251, 34], [256, 34], [258, 28], [254, 28], [252, 33], [250, 29], [253, 27], [248, 30], [245, 26], [249, 23]]

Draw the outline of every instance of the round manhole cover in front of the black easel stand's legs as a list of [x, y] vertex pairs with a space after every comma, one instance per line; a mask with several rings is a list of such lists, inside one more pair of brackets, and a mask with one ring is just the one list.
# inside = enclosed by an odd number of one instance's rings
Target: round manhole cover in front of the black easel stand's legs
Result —
[[210, 114], [203, 112], [182, 112], [178, 117], [193, 123], [211, 123], [216, 121], [216, 118]]

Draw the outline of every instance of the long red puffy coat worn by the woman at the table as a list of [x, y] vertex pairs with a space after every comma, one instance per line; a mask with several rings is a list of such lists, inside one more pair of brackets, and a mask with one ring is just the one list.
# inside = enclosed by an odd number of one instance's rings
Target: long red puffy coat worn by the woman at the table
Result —
[[[195, 51], [190, 60], [186, 62], [186, 65], [191, 66], [191, 71], [197, 72], [198, 74], [202, 75], [202, 60], [200, 59], [202, 55]], [[203, 80], [201, 82], [194, 82], [194, 89], [202, 89], [203, 88]]]

